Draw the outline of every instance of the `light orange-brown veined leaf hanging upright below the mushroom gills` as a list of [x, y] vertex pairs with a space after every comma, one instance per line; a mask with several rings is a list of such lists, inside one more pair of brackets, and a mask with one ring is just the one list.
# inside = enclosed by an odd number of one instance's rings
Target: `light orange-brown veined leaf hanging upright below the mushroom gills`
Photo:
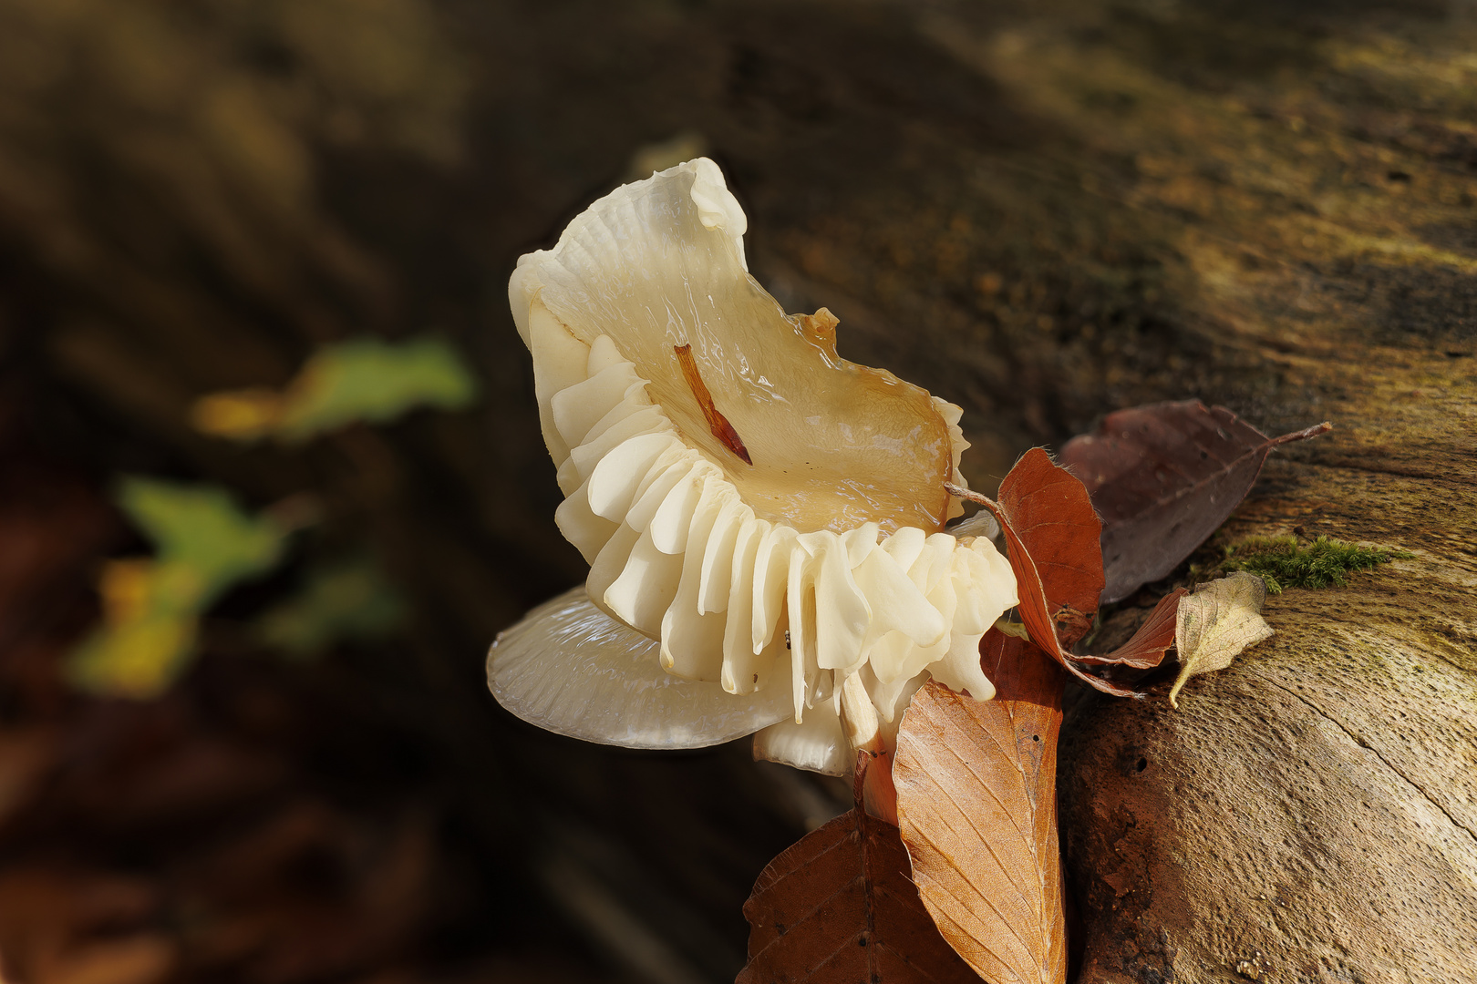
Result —
[[1066, 980], [1056, 832], [1065, 674], [997, 630], [981, 643], [995, 699], [929, 683], [898, 732], [892, 776], [913, 881], [944, 938], [991, 984]]

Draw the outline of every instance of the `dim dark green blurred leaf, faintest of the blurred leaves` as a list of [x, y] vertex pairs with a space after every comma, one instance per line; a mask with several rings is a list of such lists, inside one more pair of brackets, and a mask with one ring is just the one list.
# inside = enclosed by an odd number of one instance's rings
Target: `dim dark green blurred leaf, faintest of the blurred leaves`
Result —
[[341, 639], [374, 639], [394, 631], [408, 608], [368, 559], [313, 571], [306, 587], [267, 611], [257, 633], [292, 656], [313, 656]]

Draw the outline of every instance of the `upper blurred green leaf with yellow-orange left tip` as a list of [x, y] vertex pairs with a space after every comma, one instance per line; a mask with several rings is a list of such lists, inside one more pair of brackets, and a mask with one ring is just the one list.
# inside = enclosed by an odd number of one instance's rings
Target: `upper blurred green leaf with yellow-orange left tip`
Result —
[[216, 437], [306, 441], [356, 420], [393, 420], [415, 407], [455, 410], [476, 397], [476, 379], [446, 342], [393, 345], [365, 338], [319, 350], [281, 394], [211, 394], [195, 404], [192, 417], [196, 429]]

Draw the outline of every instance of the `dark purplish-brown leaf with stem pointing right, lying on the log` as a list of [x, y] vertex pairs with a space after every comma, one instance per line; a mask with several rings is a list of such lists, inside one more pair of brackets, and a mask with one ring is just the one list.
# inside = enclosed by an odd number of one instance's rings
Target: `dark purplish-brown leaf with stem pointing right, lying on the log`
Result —
[[1173, 571], [1241, 505], [1272, 448], [1317, 437], [1319, 423], [1269, 438], [1226, 407], [1198, 400], [1109, 413], [1058, 456], [1103, 521], [1106, 586], [1117, 602]]

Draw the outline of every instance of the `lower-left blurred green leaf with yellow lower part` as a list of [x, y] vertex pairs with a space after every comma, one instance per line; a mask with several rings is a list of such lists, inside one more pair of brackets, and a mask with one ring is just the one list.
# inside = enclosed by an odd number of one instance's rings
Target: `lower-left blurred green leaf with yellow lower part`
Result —
[[72, 652], [68, 670], [83, 689], [149, 698], [189, 664], [205, 609], [276, 567], [288, 530], [272, 516], [247, 515], [211, 485], [128, 478], [118, 503], [155, 556], [103, 568], [103, 624]]

